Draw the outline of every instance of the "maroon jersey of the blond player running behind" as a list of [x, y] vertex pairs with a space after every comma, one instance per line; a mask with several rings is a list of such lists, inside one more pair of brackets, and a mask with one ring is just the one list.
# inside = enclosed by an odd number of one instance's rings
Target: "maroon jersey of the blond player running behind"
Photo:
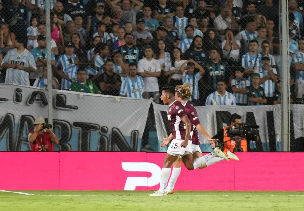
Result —
[[186, 103], [184, 106], [186, 110], [186, 114], [191, 122], [191, 133], [190, 136], [192, 138], [192, 144], [199, 145], [199, 134], [197, 133], [197, 130], [195, 128], [196, 125], [200, 124], [199, 117], [197, 116], [196, 110], [193, 106]]

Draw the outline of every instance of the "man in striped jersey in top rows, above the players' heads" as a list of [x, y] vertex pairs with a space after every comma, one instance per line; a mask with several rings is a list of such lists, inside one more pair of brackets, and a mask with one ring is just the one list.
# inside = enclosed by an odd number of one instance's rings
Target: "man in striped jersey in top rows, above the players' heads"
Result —
[[[183, 34], [185, 34], [186, 26], [188, 26], [188, 18], [184, 17], [184, 8], [182, 5], [177, 5], [175, 8], [175, 15], [172, 17], [173, 25], [175, 26], [178, 37], [182, 39]], [[194, 27], [193, 27], [194, 33]], [[188, 37], [188, 36], [187, 36]], [[193, 37], [193, 36], [192, 36]]]

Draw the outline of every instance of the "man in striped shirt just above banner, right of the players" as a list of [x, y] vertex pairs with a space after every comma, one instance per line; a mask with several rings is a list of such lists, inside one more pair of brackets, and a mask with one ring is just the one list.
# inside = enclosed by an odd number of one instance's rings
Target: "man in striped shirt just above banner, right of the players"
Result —
[[217, 82], [217, 91], [208, 95], [206, 99], [206, 106], [212, 105], [225, 105], [225, 106], [235, 106], [236, 99], [235, 96], [226, 91], [227, 85], [225, 81], [219, 80]]

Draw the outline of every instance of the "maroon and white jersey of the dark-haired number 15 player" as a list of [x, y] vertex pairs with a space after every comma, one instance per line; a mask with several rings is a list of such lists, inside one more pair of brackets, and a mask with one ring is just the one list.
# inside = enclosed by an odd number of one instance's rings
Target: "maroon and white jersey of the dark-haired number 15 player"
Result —
[[[186, 127], [181, 119], [187, 115], [184, 106], [181, 102], [174, 101], [171, 103], [168, 111], [168, 120], [173, 135], [173, 139], [185, 140]], [[191, 140], [191, 137], [189, 137]]]

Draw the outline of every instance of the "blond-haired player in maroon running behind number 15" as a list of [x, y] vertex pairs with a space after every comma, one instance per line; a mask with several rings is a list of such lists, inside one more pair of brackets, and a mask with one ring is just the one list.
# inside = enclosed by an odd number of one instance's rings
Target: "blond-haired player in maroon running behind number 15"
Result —
[[[190, 132], [190, 135], [192, 138], [191, 150], [192, 150], [193, 159], [202, 157], [202, 151], [199, 148], [199, 135], [198, 135], [197, 130], [199, 130], [199, 132], [201, 132], [204, 136], [206, 136], [206, 138], [209, 141], [212, 148], [215, 148], [215, 143], [217, 142], [217, 140], [212, 139], [209, 136], [209, 134], [207, 133], [207, 131], [205, 130], [205, 128], [200, 124], [196, 109], [193, 106], [191, 106], [190, 104], [185, 103], [184, 100], [188, 100], [189, 98], [191, 98], [191, 95], [192, 95], [188, 84], [185, 83], [183, 85], [176, 86], [175, 91], [176, 92], [175, 92], [174, 98], [177, 101], [181, 102], [181, 104], [184, 106], [187, 116], [189, 117], [191, 124], [192, 124], [192, 127], [191, 127], [192, 131]], [[161, 143], [161, 147], [167, 146], [171, 139], [172, 139], [172, 134], [170, 134], [170, 136], [168, 138], [162, 139], [163, 143]], [[220, 151], [220, 150], [219, 150], [219, 148], [215, 148], [215, 151]], [[231, 153], [230, 151], [227, 151], [226, 154], [229, 159], [239, 160], [238, 157], [235, 154]], [[219, 161], [225, 160], [222, 157], [210, 158], [211, 155], [212, 155], [212, 153], [209, 153], [204, 156], [206, 158], [206, 162], [203, 165], [199, 166], [198, 167], [199, 169], [206, 168], [209, 165], [212, 165]], [[209, 160], [207, 160], [207, 159], [209, 159]], [[167, 195], [174, 193], [174, 185], [181, 172], [181, 162], [182, 162], [181, 158], [178, 157], [178, 159], [176, 161], [174, 161], [174, 163], [173, 163], [172, 174], [169, 179], [168, 186], [166, 188]]]

